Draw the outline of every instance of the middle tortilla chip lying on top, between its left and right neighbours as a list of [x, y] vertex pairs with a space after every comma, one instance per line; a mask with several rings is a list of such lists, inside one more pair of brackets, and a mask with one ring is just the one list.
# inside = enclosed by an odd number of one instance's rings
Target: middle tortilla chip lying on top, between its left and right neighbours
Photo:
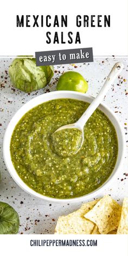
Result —
[[104, 196], [95, 204], [92, 210], [85, 214], [85, 218], [94, 222], [100, 234], [107, 234], [117, 229], [121, 216], [121, 206], [109, 195]]

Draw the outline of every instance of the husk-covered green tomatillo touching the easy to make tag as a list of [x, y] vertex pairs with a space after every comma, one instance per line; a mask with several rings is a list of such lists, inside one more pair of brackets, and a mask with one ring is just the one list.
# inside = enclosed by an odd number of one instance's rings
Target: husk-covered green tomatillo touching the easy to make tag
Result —
[[48, 85], [54, 75], [54, 68], [37, 67], [34, 58], [16, 58], [9, 67], [9, 75], [14, 87], [29, 93]]

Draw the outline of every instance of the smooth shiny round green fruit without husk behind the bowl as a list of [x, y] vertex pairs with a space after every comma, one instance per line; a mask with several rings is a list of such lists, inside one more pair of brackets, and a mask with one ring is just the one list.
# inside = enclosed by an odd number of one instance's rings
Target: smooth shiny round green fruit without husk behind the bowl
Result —
[[80, 73], [68, 71], [60, 76], [56, 89], [58, 91], [76, 91], [85, 93], [87, 92], [88, 84]]

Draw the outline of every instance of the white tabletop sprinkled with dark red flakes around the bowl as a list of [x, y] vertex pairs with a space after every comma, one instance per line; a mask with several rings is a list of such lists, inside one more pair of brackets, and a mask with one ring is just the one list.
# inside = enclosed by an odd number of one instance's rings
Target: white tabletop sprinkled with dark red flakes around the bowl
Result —
[[[124, 167], [120, 170], [120, 175], [114, 180], [111, 187], [99, 194], [98, 197], [110, 194], [118, 202], [122, 202], [124, 196], [128, 194], [128, 138], [127, 138], [127, 111], [128, 111], [128, 60], [120, 57], [97, 57], [92, 63], [82, 63], [79, 65], [55, 66], [55, 75], [50, 84], [38, 92], [25, 94], [12, 87], [8, 68], [12, 60], [0, 59], [0, 170], [2, 181], [0, 183], [0, 201], [9, 203], [20, 215], [20, 231], [22, 234], [53, 234], [57, 217], [65, 215], [80, 207], [80, 203], [73, 204], [50, 204], [38, 200], [25, 193], [12, 180], [5, 167], [2, 153], [3, 136], [5, 129], [14, 113], [28, 100], [46, 93], [55, 91], [56, 82], [63, 71], [73, 70], [80, 72], [88, 81], [89, 89], [87, 94], [96, 96], [103, 85], [107, 74], [117, 61], [124, 63], [121, 75], [112, 85], [105, 97], [104, 103], [118, 117], [124, 129], [126, 141], [126, 153]], [[92, 198], [90, 199], [92, 200]]]

